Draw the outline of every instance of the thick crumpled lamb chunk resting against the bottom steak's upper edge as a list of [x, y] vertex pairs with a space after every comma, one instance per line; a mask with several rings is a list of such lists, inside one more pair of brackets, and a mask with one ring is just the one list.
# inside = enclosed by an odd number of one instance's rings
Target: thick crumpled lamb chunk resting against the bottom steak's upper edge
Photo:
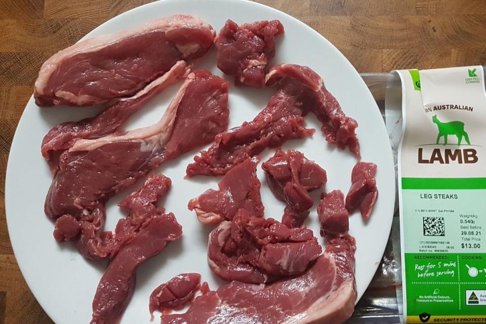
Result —
[[322, 250], [310, 229], [293, 228], [240, 209], [209, 237], [208, 264], [224, 280], [261, 284], [304, 272]]

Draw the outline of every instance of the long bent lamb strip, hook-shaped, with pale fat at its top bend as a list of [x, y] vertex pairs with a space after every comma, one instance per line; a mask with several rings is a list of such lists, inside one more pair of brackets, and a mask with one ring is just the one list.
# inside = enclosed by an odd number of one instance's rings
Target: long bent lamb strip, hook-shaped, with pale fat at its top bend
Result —
[[252, 121], [218, 134], [215, 143], [187, 166], [187, 177], [225, 174], [265, 148], [312, 135], [314, 130], [304, 127], [309, 112], [321, 121], [328, 142], [360, 156], [356, 120], [344, 114], [318, 74], [306, 66], [280, 64], [265, 79], [268, 86], [277, 87], [267, 106]]

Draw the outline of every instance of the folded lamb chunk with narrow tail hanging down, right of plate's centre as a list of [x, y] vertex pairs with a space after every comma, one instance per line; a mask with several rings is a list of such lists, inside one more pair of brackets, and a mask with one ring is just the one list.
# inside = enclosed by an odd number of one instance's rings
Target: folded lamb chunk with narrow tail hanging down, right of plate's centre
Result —
[[314, 200], [308, 192], [322, 188], [328, 181], [326, 171], [299, 151], [277, 150], [262, 165], [275, 197], [287, 204], [282, 223], [300, 227], [309, 216]]

